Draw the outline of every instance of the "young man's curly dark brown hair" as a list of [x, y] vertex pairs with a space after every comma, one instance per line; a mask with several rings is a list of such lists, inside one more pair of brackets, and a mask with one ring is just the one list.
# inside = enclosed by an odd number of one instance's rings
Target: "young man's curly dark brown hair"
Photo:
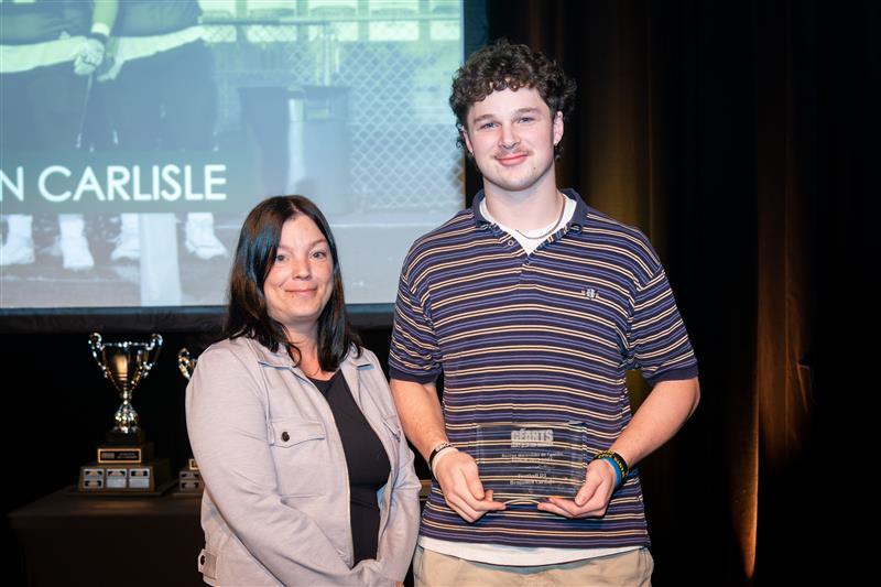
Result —
[[[467, 129], [468, 109], [472, 104], [493, 91], [519, 88], [534, 88], [551, 108], [552, 117], [563, 112], [563, 119], [568, 119], [575, 102], [575, 80], [544, 54], [502, 39], [472, 53], [453, 77], [449, 106], [456, 113], [459, 130], [456, 144], [465, 148], [461, 134]], [[554, 155], [558, 159], [559, 154], [557, 144]]]

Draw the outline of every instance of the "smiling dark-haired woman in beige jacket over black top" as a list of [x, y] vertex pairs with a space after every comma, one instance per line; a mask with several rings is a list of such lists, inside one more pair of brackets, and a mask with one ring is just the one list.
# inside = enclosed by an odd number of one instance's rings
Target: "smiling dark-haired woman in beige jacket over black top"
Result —
[[302, 196], [244, 220], [227, 338], [187, 388], [211, 585], [395, 585], [420, 483], [376, 356], [346, 315], [336, 244]]

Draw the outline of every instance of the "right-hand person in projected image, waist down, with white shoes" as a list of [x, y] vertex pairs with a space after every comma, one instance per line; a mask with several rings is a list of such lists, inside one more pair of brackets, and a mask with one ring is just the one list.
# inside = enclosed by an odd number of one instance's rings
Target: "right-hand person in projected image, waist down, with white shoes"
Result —
[[[116, 0], [99, 4], [108, 1]], [[200, 15], [197, 0], [118, 2], [97, 79], [119, 149], [142, 153], [214, 150], [217, 86]], [[111, 260], [140, 259], [140, 231], [138, 214], [120, 215]], [[200, 260], [229, 257], [209, 211], [187, 213], [184, 247]]]

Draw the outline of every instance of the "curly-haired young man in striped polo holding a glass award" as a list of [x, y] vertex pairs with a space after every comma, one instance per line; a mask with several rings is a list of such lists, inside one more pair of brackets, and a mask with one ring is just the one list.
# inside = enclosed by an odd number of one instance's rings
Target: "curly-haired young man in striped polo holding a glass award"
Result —
[[[404, 431], [435, 478], [418, 585], [651, 580], [633, 467], [694, 412], [697, 363], [648, 239], [556, 186], [574, 99], [555, 63], [504, 42], [454, 79], [460, 143], [483, 189], [413, 244], [389, 359]], [[653, 384], [632, 417], [628, 369]], [[485, 491], [479, 430], [500, 422], [583, 431], [577, 494], [524, 506]]]

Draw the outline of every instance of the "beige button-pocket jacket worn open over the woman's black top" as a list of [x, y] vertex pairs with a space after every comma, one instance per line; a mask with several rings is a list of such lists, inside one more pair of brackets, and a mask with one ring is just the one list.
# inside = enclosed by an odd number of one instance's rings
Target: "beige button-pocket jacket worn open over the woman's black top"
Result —
[[346, 457], [330, 407], [283, 350], [248, 338], [202, 354], [187, 387], [205, 481], [199, 570], [211, 585], [394, 585], [416, 543], [420, 482], [385, 376], [367, 349], [340, 365], [389, 455], [377, 559], [352, 568]]

